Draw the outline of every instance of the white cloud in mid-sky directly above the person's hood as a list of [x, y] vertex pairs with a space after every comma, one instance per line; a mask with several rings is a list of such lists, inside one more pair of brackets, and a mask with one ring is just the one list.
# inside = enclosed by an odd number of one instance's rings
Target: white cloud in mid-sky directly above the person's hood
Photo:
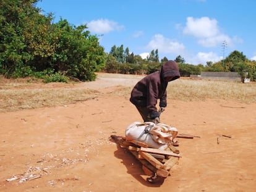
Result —
[[165, 54], [181, 54], [185, 49], [182, 43], [165, 38], [161, 34], [153, 36], [153, 39], [148, 43], [147, 48], [158, 49], [158, 52]]

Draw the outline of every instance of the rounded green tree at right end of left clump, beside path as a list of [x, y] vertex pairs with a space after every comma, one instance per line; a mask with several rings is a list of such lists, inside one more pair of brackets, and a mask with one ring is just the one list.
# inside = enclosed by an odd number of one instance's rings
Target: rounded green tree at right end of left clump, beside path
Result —
[[98, 38], [85, 30], [86, 25], [75, 27], [61, 19], [54, 26], [59, 34], [52, 61], [54, 69], [82, 81], [95, 80], [95, 72], [105, 67], [105, 52]]

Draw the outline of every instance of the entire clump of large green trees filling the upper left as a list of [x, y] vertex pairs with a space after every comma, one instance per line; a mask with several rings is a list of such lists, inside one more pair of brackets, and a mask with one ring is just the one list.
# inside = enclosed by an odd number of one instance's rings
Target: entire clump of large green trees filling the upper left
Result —
[[51, 23], [38, 0], [0, 1], [0, 72], [7, 77], [62, 73], [94, 80], [105, 65], [104, 48], [96, 36], [67, 20]]

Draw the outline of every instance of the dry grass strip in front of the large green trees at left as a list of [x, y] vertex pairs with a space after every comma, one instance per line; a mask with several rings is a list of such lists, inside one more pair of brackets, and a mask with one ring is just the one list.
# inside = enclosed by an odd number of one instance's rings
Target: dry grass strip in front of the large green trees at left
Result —
[[82, 88], [1, 90], [0, 112], [72, 104], [94, 99], [99, 93]]

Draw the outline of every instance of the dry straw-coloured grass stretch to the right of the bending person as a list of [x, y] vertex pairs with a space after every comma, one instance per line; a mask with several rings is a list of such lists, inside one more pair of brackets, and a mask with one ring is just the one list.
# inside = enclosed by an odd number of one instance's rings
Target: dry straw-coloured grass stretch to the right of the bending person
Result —
[[256, 84], [237, 81], [180, 79], [169, 83], [169, 97], [185, 101], [205, 99], [234, 99], [256, 102]]

